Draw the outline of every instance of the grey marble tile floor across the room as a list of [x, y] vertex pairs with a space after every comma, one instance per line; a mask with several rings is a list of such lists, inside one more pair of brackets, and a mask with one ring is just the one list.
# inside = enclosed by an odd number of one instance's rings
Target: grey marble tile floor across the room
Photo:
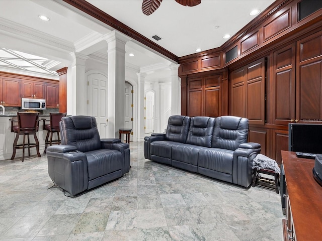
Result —
[[45, 154], [0, 161], [0, 240], [282, 240], [274, 190], [145, 160], [143, 142], [130, 148], [127, 175], [76, 198], [47, 189]]

